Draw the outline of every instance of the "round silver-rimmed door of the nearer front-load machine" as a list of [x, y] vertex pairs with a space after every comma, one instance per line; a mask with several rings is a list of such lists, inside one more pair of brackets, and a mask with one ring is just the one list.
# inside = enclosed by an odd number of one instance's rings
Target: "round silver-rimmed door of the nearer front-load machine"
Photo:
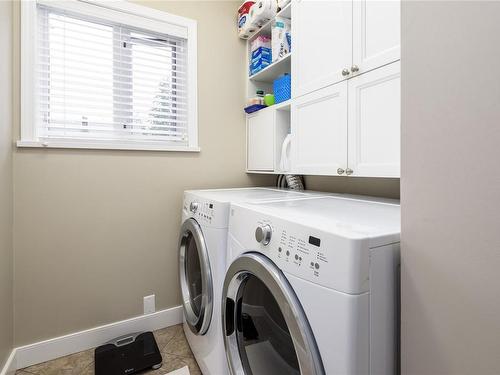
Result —
[[276, 265], [257, 253], [234, 260], [224, 281], [222, 324], [233, 375], [324, 375], [307, 317]]

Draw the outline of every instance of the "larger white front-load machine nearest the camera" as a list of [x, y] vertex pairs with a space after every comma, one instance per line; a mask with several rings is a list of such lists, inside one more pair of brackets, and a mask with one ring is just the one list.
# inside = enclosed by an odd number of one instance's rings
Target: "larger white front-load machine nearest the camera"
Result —
[[231, 374], [395, 374], [399, 240], [399, 204], [232, 204], [222, 298]]

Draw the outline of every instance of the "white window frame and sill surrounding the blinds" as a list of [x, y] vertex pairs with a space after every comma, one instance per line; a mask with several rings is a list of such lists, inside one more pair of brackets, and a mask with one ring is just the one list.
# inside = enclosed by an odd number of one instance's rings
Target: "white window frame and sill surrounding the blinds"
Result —
[[[37, 48], [37, 4], [87, 14], [144, 30], [162, 32], [187, 39], [188, 145], [172, 146], [148, 141], [41, 140], [36, 137], [37, 91], [35, 82]], [[81, 148], [114, 150], [199, 152], [197, 88], [197, 22], [126, 1], [103, 0], [26, 0], [21, 2], [21, 139], [18, 147]]]

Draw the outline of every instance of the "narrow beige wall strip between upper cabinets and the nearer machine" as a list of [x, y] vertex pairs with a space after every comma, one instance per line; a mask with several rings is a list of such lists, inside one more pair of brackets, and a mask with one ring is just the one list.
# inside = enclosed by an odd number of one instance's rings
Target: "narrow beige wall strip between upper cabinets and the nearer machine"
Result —
[[399, 199], [399, 178], [306, 176], [306, 189]]

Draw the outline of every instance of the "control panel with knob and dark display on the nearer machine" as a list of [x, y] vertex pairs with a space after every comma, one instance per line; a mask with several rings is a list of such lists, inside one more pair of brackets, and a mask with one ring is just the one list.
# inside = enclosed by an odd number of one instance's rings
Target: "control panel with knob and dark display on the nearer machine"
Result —
[[234, 205], [229, 235], [240, 247], [231, 249], [232, 258], [256, 251], [283, 272], [315, 284], [352, 294], [369, 290], [369, 248], [364, 239], [335, 236], [280, 218], [262, 218]]

